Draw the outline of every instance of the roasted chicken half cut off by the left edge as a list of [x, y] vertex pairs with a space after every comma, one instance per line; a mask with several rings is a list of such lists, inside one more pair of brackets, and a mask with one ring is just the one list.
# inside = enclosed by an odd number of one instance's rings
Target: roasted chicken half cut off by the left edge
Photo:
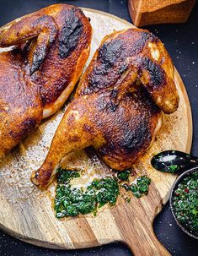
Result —
[[88, 59], [92, 28], [81, 9], [51, 5], [0, 29], [0, 158], [72, 92]]

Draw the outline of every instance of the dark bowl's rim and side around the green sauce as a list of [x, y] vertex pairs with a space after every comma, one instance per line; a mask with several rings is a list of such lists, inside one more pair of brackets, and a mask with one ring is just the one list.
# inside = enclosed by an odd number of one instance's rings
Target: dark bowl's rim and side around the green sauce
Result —
[[172, 214], [174, 215], [174, 220], [176, 221], [177, 225], [183, 230], [185, 231], [186, 234], [188, 234], [190, 237], [194, 237], [195, 239], [198, 239], [198, 236], [196, 236], [195, 234], [193, 234], [192, 232], [186, 230], [185, 226], [182, 226], [179, 221], [177, 220], [177, 217], [175, 216], [174, 214], [174, 207], [173, 207], [173, 196], [174, 196], [174, 191], [178, 188], [178, 185], [180, 182], [183, 181], [183, 179], [185, 177], [188, 177], [191, 173], [195, 172], [195, 171], [198, 171], [198, 166], [195, 166], [194, 168], [190, 169], [190, 170], [187, 170], [185, 172], [183, 172], [177, 179], [176, 181], [174, 182], [174, 185], [173, 185], [173, 188], [171, 190], [171, 193], [170, 193], [170, 209], [171, 209], [171, 212]]

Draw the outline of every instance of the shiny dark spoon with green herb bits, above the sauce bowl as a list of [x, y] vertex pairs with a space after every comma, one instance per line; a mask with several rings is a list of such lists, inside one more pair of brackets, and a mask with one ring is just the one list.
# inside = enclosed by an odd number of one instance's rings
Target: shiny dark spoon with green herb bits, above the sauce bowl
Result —
[[179, 173], [198, 166], [198, 157], [177, 150], [167, 150], [154, 155], [151, 164], [161, 172]]

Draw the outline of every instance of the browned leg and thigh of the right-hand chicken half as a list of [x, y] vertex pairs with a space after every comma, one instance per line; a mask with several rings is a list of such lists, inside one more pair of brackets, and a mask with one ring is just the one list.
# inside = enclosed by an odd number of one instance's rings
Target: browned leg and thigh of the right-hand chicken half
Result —
[[145, 154], [161, 126], [160, 109], [144, 89], [127, 93], [116, 107], [111, 98], [111, 91], [104, 91], [72, 101], [43, 165], [32, 174], [35, 185], [46, 188], [65, 155], [90, 145], [118, 171], [131, 167]]

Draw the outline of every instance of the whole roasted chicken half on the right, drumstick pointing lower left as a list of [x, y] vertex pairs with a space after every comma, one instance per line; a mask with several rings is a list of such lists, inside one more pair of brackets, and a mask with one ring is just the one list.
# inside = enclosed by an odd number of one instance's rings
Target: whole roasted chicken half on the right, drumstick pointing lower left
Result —
[[152, 144], [161, 110], [172, 113], [178, 104], [174, 66], [156, 36], [138, 29], [106, 36], [32, 181], [46, 188], [62, 158], [88, 146], [113, 169], [131, 167]]

